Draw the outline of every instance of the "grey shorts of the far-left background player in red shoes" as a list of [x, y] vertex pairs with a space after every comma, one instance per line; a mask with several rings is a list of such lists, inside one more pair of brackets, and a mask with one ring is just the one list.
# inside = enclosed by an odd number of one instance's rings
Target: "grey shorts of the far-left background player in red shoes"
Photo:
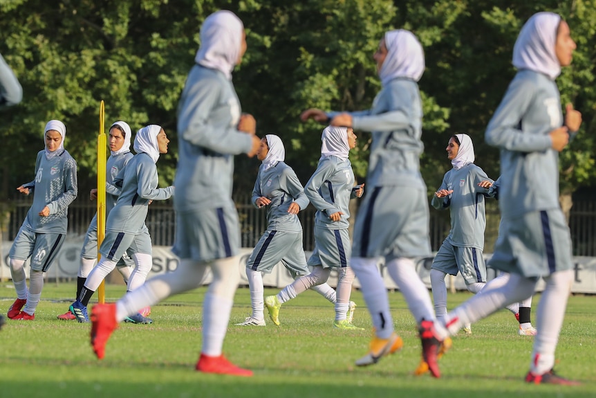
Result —
[[35, 233], [28, 226], [22, 225], [15, 241], [12, 242], [8, 257], [25, 261], [32, 256], [31, 269], [46, 272], [54, 262], [65, 238], [64, 233]]

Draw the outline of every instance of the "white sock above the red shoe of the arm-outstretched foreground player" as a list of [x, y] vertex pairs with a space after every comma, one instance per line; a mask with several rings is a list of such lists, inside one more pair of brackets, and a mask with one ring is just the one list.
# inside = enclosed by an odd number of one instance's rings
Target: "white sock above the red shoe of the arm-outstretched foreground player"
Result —
[[434, 320], [435, 314], [429, 289], [418, 276], [411, 258], [397, 258], [386, 264], [389, 275], [404, 295], [410, 312], [420, 325], [422, 320]]

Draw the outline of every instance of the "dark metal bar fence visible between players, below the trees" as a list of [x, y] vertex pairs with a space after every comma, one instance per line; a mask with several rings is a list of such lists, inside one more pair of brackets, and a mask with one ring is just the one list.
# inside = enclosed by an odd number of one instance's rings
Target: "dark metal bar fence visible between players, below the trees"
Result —
[[[250, 197], [235, 197], [241, 224], [242, 247], [254, 247], [261, 234], [267, 228], [265, 211], [252, 206]], [[3, 239], [12, 240], [17, 235], [27, 211], [31, 206], [31, 199], [24, 197], [13, 201], [8, 226], [3, 233]], [[83, 199], [75, 200], [68, 208], [68, 234], [80, 236], [86, 233], [89, 221], [95, 214], [95, 202]], [[315, 241], [313, 225], [315, 208], [308, 206], [299, 213], [304, 229], [304, 250], [312, 251]], [[495, 201], [486, 203], [485, 253], [492, 253], [494, 242], [499, 234], [499, 208]], [[176, 217], [171, 201], [160, 201], [149, 206], [147, 227], [151, 239], [156, 246], [171, 246], [174, 244]], [[596, 203], [594, 201], [575, 201], [571, 209], [569, 226], [573, 245], [573, 255], [596, 257]], [[430, 209], [430, 238], [433, 251], [437, 251], [443, 239], [449, 233], [449, 212]]]

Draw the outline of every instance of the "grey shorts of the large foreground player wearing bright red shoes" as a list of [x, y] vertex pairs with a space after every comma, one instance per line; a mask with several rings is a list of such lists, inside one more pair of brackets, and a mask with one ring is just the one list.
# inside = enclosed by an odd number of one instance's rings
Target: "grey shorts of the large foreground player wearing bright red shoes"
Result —
[[201, 262], [238, 255], [240, 224], [234, 205], [176, 212], [176, 242], [172, 252], [181, 259]]

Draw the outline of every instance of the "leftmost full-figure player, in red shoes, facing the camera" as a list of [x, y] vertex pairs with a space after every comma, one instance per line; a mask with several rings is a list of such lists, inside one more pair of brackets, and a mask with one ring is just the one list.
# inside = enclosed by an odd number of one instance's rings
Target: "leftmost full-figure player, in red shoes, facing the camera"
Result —
[[[44, 289], [44, 272], [50, 269], [64, 244], [68, 206], [77, 197], [77, 162], [64, 149], [65, 137], [64, 123], [50, 120], [46, 124], [46, 149], [37, 153], [35, 179], [17, 188], [24, 195], [33, 192], [33, 203], [8, 253], [12, 283], [17, 291], [17, 300], [8, 309], [10, 319], [35, 319]], [[27, 289], [23, 266], [30, 256]]]

